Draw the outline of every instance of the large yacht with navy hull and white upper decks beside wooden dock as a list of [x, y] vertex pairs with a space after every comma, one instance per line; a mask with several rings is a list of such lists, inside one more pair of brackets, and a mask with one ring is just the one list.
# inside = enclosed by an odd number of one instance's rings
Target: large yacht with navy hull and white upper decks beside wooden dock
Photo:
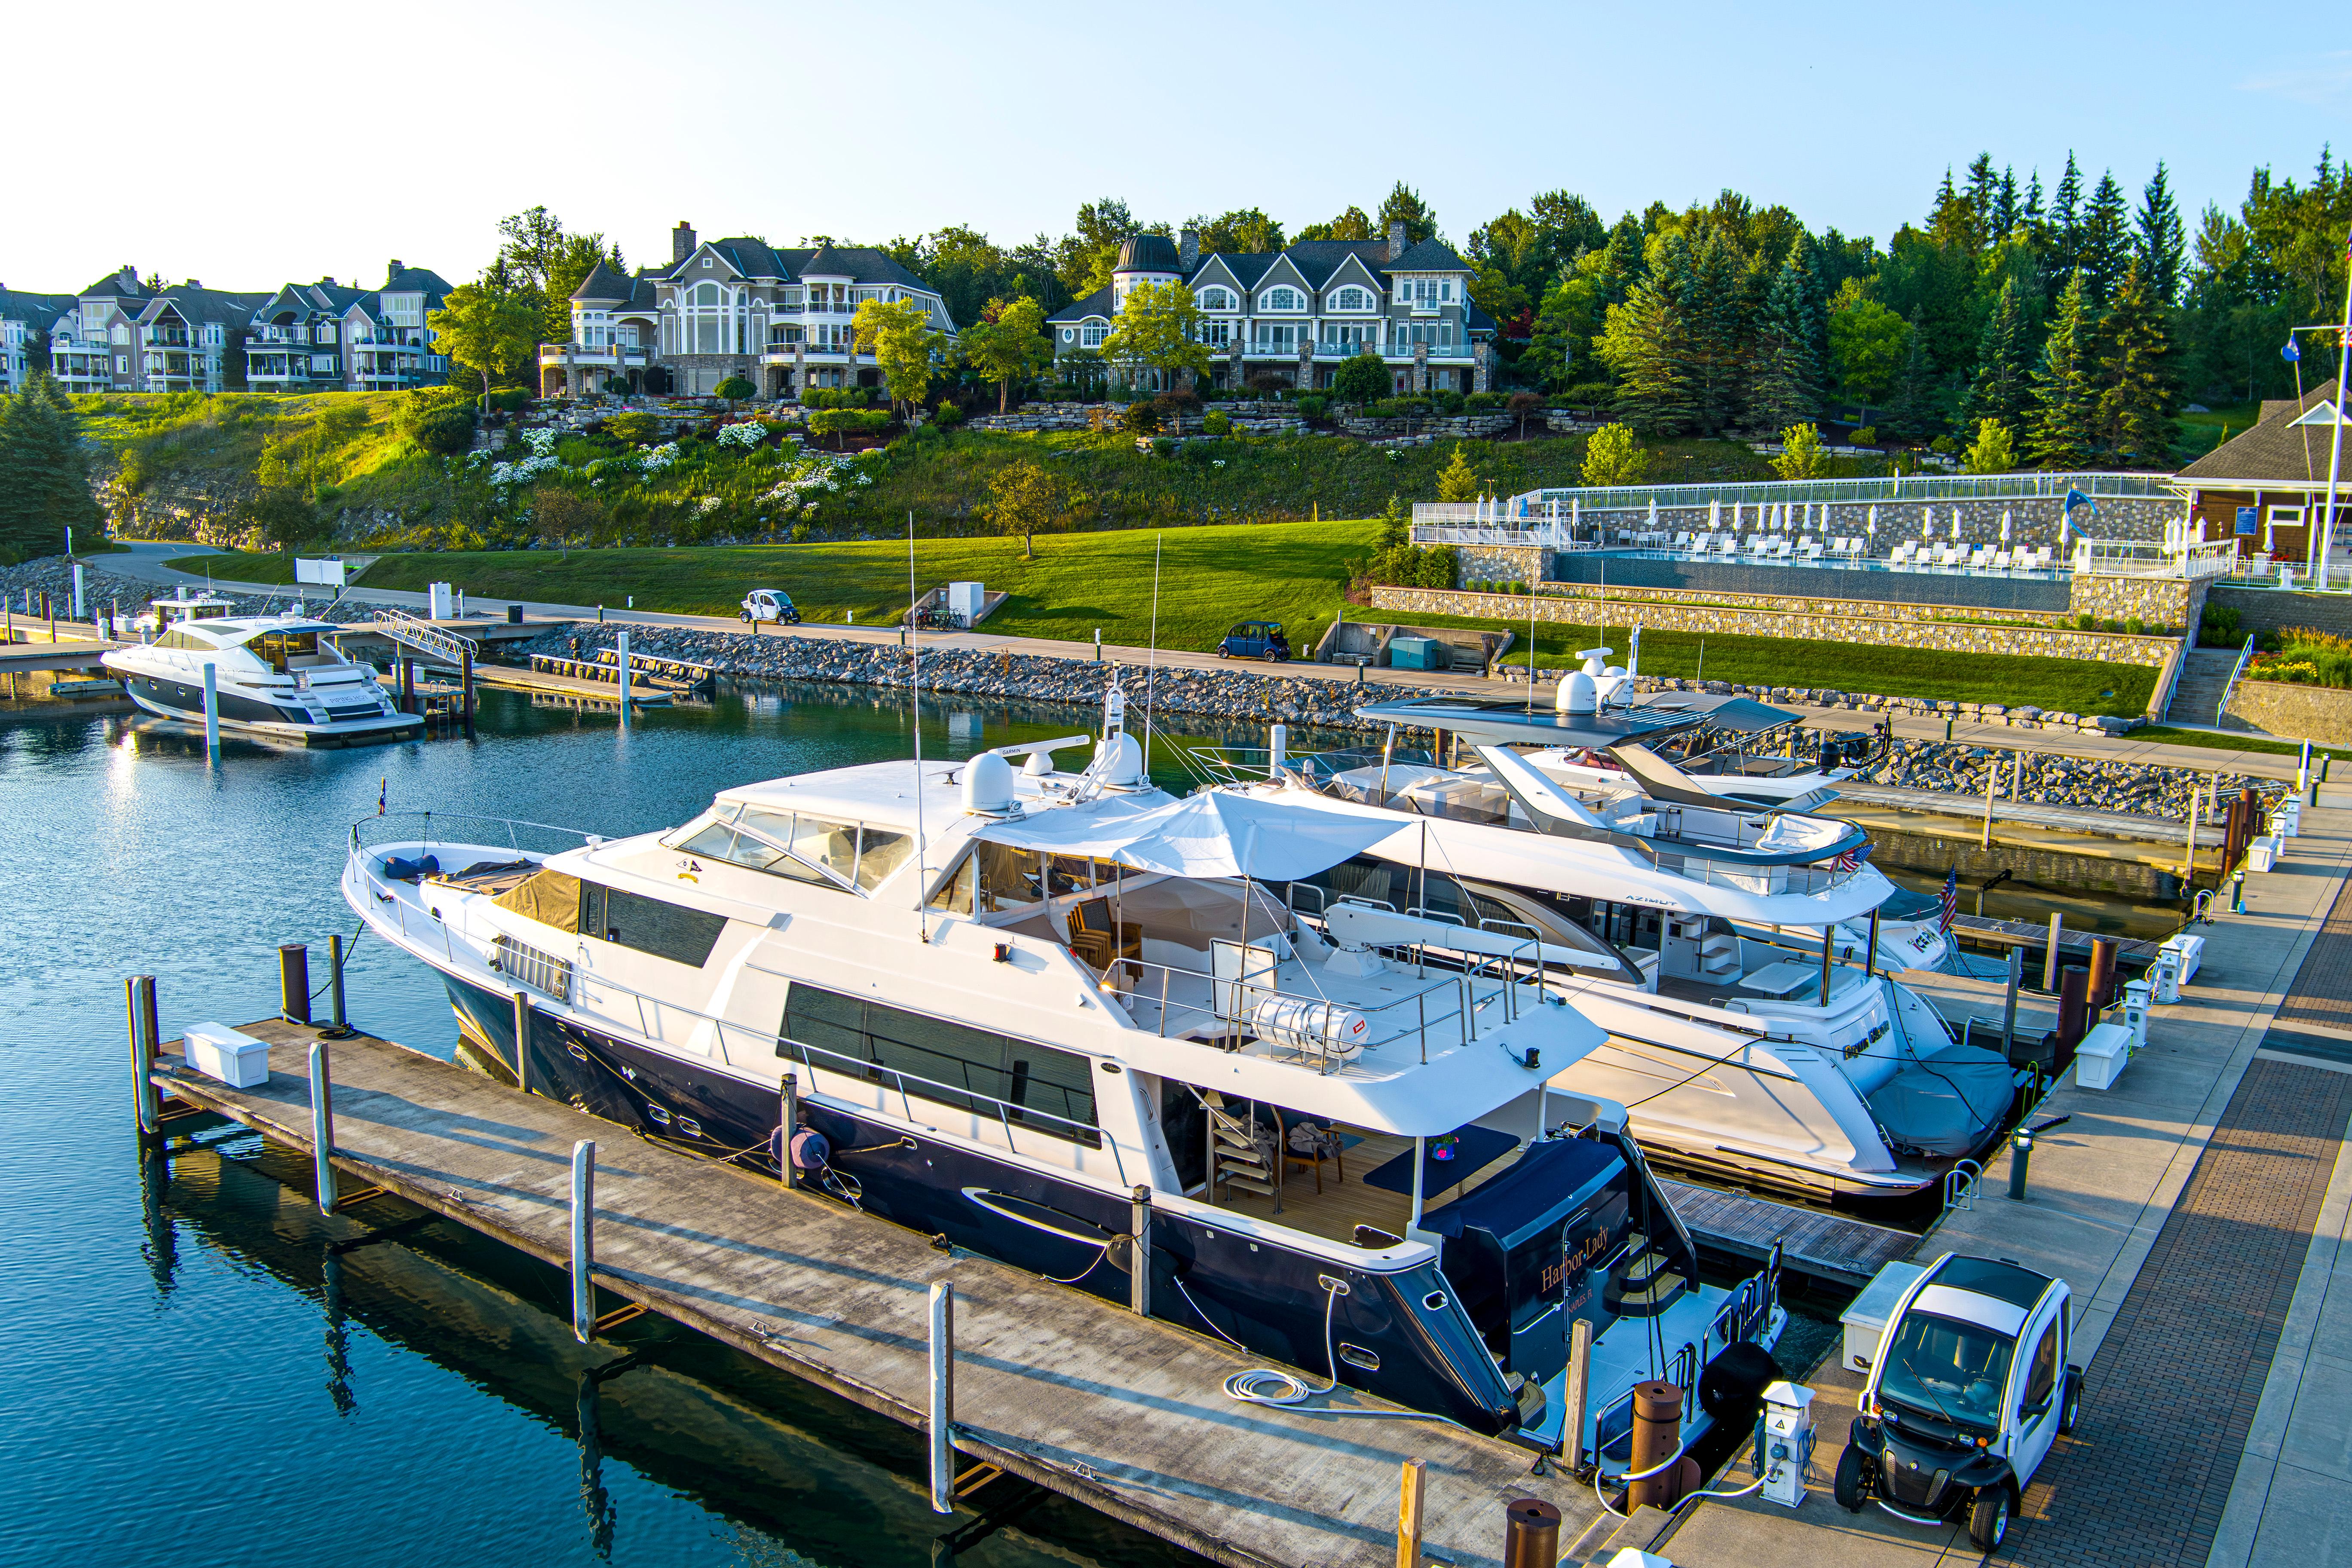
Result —
[[1555, 1448], [1585, 1319], [1623, 1462], [1635, 1382], [1703, 1425], [1773, 1375], [1778, 1272], [1698, 1281], [1623, 1107], [1550, 1086], [1602, 1034], [1524, 954], [1435, 971], [1399, 954], [1442, 922], [1334, 940], [1268, 893], [1385, 823], [1169, 799], [1115, 726], [1054, 771], [1087, 741], [564, 849], [365, 818], [343, 896], [532, 1093], [1122, 1302], [1141, 1190], [1150, 1312], [1310, 1382]]

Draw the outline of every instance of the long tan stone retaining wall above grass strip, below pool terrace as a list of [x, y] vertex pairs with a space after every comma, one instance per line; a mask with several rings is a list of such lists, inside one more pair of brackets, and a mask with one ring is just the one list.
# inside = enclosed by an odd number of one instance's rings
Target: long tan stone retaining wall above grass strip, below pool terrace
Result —
[[[1595, 595], [1597, 599], [1597, 595]], [[1611, 595], [1611, 604], [1616, 604]], [[1498, 595], [1437, 588], [1374, 588], [1374, 609], [1409, 616], [1475, 616], [1479, 621], [1562, 621], [1588, 625], [1585, 599], [1562, 595]], [[2161, 668], [2171, 637], [2079, 632], [2056, 625], [1987, 625], [1978, 621], [1896, 621], [1889, 616], [1802, 614], [1733, 604], [1642, 604], [1642, 625], [1665, 632], [1719, 632], [1736, 637], [1818, 637], [1947, 654], [2030, 654], [2039, 658], [2089, 658], [2098, 663]]]

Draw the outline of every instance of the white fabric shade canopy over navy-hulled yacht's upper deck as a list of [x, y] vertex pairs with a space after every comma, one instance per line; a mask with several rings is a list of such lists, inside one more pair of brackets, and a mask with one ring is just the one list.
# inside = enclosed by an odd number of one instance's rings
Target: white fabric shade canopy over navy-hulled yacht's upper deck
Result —
[[1359, 856], [1392, 832], [1395, 823], [1385, 820], [1324, 816], [1216, 790], [1136, 813], [1049, 811], [990, 823], [974, 837], [1169, 877], [1294, 882]]

